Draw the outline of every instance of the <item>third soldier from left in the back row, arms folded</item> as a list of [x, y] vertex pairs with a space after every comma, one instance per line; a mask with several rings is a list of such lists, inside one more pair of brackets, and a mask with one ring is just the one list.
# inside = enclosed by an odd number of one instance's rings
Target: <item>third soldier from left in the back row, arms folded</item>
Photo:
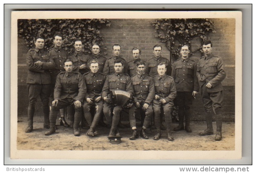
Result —
[[75, 52], [67, 57], [74, 64], [73, 71], [79, 71], [81, 74], [89, 72], [89, 68], [86, 67], [89, 60], [89, 55], [86, 55], [83, 52], [83, 43], [80, 39], [75, 40], [74, 48]]

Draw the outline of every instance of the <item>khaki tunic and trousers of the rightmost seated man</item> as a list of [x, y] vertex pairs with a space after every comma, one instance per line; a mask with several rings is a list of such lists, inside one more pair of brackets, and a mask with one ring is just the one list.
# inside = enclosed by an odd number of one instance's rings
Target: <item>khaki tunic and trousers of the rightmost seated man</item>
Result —
[[[153, 77], [153, 81], [155, 83], [155, 91], [156, 95], [160, 97], [160, 99], [153, 100], [153, 109], [155, 113], [155, 125], [156, 130], [158, 132], [161, 131], [161, 123], [160, 123], [160, 109], [163, 107], [164, 115], [165, 115], [165, 123], [166, 123], [166, 130], [167, 132], [171, 131], [171, 112], [173, 107], [173, 100], [176, 97], [176, 88], [175, 88], [175, 81], [171, 76], [159, 76], [156, 75]], [[165, 99], [166, 103], [161, 104], [159, 100]]]

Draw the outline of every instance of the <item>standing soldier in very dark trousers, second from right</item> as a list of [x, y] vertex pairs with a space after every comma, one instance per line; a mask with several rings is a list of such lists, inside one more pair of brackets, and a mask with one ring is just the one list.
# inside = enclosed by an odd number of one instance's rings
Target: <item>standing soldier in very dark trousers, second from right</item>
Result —
[[199, 83], [196, 77], [196, 62], [189, 59], [189, 46], [183, 45], [180, 50], [181, 58], [177, 59], [172, 65], [172, 78], [175, 80], [177, 96], [175, 102], [179, 107], [179, 126], [175, 127], [174, 131], [184, 130], [184, 115], [185, 115], [185, 130], [192, 132], [190, 128], [191, 121], [191, 105], [193, 97], [199, 91]]

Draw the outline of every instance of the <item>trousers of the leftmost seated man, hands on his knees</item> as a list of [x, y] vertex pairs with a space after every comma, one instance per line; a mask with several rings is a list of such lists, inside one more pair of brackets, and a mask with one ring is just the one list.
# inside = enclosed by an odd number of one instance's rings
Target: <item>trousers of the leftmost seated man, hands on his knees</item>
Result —
[[82, 107], [75, 108], [74, 102], [76, 102], [76, 100], [74, 100], [72, 98], [65, 98], [63, 100], [59, 100], [56, 107], [52, 106], [52, 109], [50, 111], [50, 126], [51, 127], [55, 127], [58, 110], [62, 109], [64, 107], [67, 107], [68, 105], [71, 105], [72, 109], [70, 109], [70, 112], [72, 115], [74, 115], [74, 126], [73, 127], [78, 128], [79, 123], [81, 122]]

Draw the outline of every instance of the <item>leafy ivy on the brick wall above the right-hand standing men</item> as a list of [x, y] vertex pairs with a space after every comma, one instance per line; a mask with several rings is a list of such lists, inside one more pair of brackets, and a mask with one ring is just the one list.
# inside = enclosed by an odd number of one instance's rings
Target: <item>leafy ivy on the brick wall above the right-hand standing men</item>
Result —
[[[171, 58], [175, 59], [180, 56], [181, 45], [187, 44], [191, 49], [191, 40], [200, 38], [203, 42], [209, 33], [215, 32], [213, 23], [208, 19], [156, 19], [152, 25], [155, 26], [157, 37], [170, 50]], [[201, 47], [193, 52], [190, 50], [191, 54], [197, 51], [202, 52]]]

